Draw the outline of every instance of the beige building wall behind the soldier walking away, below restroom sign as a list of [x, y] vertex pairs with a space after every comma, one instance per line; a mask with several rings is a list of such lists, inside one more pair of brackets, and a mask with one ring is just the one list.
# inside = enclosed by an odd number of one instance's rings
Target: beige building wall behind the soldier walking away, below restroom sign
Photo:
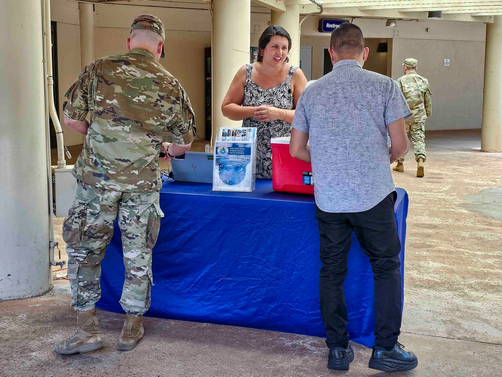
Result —
[[[310, 17], [302, 25], [302, 46], [313, 46], [313, 79], [321, 75], [322, 55], [319, 49], [329, 45], [329, 34], [317, 30], [318, 20]], [[376, 41], [389, 38], [388, 56], [392, 59], [387, 59], [387, 68], [381, 73], [397, 79], [403, 74], [405, 58], [419, 60], [418, 72], [429, 79], [433, 94], [433, 115], [427, 121], [428, 130], [481, 127], [484, 24], [421, 20], [398, 21], [396, 28], [386, 28], [385, 20], [354, 19], [353, 22], [362, 29], [370, 47], [370, 57], [376, 56], [380, 60]], [[374, 48], [369, 45], [372, 42], [376, 43]], [[449, 67], [444, 66], [445, 58], [451, 59]], [[371, 62], [367, 63], [370, 64], [364, 67], [371, 68]]]

